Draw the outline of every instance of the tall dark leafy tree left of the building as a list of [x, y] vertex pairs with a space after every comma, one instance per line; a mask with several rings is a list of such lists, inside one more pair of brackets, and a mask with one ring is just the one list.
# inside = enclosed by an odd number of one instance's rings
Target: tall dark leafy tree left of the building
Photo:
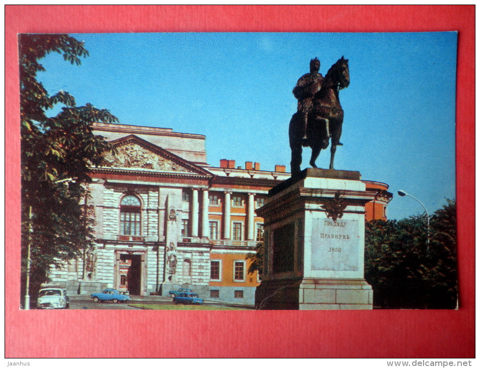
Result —
[[[88, 56], [84, 44], [66, 34], [21, 34], [20, 133], [22, 182], [22, 287], [25, 295], [27, 248], [31, 245], [30, 295], [48, 281], [50, 267], [81, 255], [93, 246], [93, 224], [85, 211], [89, 167], [102, 163], [112, 150], [104, 137], [93, 134], [92, 122], [113, 123], [108, 110], [91, 104], [76, 106], [68, 92], [50, 96], [37, 80], [39, 63], [58, 52], [72, 65]], [[57, 104], [61, 111], [48, 116]], [[66, 178], [73, 178], [58, 182]], [[23, 300], [23, 299], [22, 299]]]

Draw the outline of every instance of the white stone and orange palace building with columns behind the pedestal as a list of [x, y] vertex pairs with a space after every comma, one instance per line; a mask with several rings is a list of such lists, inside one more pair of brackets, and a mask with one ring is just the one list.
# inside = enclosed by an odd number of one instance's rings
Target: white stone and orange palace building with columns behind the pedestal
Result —
[[[253, 304], [259, 275], [245, 257], [263, 240], [256, 216], [267, 192], [290, 177], [285, 166], [257, 162], [207, 164], [205, 136], [171, 129], [97, 123], [111, 141], [92, 169], [86, 207], [95, 218], [96, 248], [60, 270], [52, 282], [70, 293], [114, 287], [130, 294], [168, 295], [188, 287], [207, 299]], [[386, 219], [388, 186], [364, 181], [375, 201], [366, 218]]]

